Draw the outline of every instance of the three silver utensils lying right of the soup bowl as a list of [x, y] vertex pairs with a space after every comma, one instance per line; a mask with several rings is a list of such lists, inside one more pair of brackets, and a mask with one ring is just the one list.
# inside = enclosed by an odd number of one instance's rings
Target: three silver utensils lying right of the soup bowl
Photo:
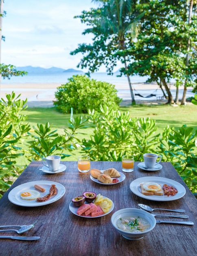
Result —
[[[179, 212], [179, 213], [184, 213], [185, 210], [182, 209], [159, 209], [159, 208], [151, 208], [146, 204], [138, 204], [140, 208], [146, 211], [154, 211], [154, 210], [164, 210], [164, 211], [174, 211], [174, 212]], [[187, 215], [165, 215], [165, 214], [152, 214], [154, 217], [156, 216], [162, 216], [162, 217], [173, 217], [173, 218], [183, 218], [183, 219], [188, 219], [189, 216]], [[182, 224], [182, 225], [194, 225], [192, 221], [167, 221], [167, 220], [156, 220], [157, 223], [167, 223], [167, 224]]]

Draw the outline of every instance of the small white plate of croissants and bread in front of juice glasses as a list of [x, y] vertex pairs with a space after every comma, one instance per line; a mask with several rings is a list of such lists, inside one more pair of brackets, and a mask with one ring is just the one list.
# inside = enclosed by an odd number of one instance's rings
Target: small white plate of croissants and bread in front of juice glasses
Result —
[[90, 179], [102, 185], [115, 185], [125, 180], [125, 174], [118, 172], [114, 168], [106, 170], [91, 169]]

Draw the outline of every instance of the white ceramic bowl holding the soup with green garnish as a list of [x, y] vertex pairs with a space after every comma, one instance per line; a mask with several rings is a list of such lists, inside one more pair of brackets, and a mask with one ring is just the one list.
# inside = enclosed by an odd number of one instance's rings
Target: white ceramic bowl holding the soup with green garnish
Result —
[[[140, 233], [131, 233], [131, 232], [127, 232], [127, 231], [123, 231], [123, 230], [119, 229], [116, 226], [117, 220], [120, 219], [120, 218], [128, 217], [128, 216], [140, 217], [140, 218], [143, 218], [143, 219], [147, 220], [150, 224], [150, 228], [148, 230], [140, 232]], [[144, 236], [149, 234], [149, 232], [152, 229], [154, 229], [154, 227], [156, 225], [155, 217], [151, 213], [149, 213], [147, 211], [144, 211], [142, 209], [136, 209], [136, 208], [126, 208], [126, 209], [120, 209], [120, 210], [116, 211], [111, 217], [111, 222], [112, 222], [112, 225], [114, 226], [114, 228], [124, 238], [127, 238], [129, 240], [140, 240], [140, 239], [142, 239]]]

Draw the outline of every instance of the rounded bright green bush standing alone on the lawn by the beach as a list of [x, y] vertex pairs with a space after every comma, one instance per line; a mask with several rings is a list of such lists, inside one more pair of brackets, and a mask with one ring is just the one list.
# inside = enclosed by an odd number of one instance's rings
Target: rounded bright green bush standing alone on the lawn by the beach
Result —
[[88, 110], [99, 110], [101, 104], [117, 109], [120, 99], [115, 86], [90, 79], [85, 75], [72, 76], [68, 83], [61, 85], [55, 92], [57, 101], [54, 105], [64, 113], [88, 113]]

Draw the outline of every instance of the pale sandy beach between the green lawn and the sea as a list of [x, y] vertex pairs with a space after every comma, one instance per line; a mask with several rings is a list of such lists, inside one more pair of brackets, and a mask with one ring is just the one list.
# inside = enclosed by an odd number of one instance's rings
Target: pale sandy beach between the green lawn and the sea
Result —
[[[16, 95], [21, 94], [20, 99], [28, 99], [28, 107], [52, 107], [53, 101], [55, 101], [55, 91], [61, 86], [61, 83], [10, 83], [0, 85], [0, 98], [6, 99], [6, 94], [11, 94], [12, 91]], [[136, 85], [135, 85], [136, 86]], [[159, 87], [155, 83], [138, 83], [137, 92], [142, 92], [144, 90], [149, 93], [149, 90], [157, 90]], [[175, 87], [171, 85], [171, 90], [175, 90]], [[183, 89], [180, 88], [180, 89]], [[129, 85], [116, 85], [116, 90], [119, 90], [118, 97], [123, 99], [121, 106], [128, 106], [131, 104], [131, 96], [128, 94]], [[140, 104], [158, 104], [166, 103], [166, 99], [161, 100], [162, 92], [158, 97], [152, 97], [148, 100], [146, 98], [136, 99], [136, 103]], [[139, 98], [139, 97], [135, 97]]]

